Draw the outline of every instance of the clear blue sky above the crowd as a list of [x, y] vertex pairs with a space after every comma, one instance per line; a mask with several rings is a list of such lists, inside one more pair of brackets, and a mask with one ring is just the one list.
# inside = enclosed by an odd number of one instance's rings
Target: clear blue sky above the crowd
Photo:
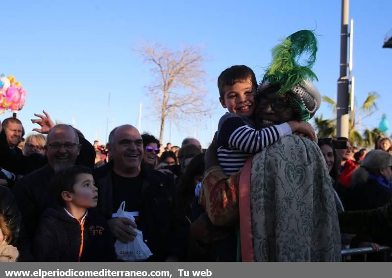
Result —
[[[390, 113], [392, 49], [382, 48], [392, 28], [392, 1], [351, 0], [354, 23], [353, 75], [356, 97], [377, 92], [379, 110], [363, 127], [378, 126]], [[27, 133], [29, 121], [43, 109], [53, 119], [71, 123], [87, 139], [105, 141], [108, 94], [109, 131], [129, 123], [137, 126], [143, 103], [141, 131], [158, 136], [157, 116], [150, 109], [146, 86], [152, 81], [149, 65], [132, 49], [141, 41], [156, 41], [172, 49], [202, 45], [206, 88], [217, 102], [211, 118], [177, 130], [170, 123], [164, 142], [180, 144], [187, 136], [211, 141], [212, 124], [225, 112], [218, 105], [216, 79], [235, 64], [251, 67], [258, 79], [270, 62], [270, 49], [282, 37], [300, 29], [316, 29], [318, 60], [314, 71], [319, 91], [336, 99], [339, 77], [341, 1], [76, 1], [37, 0], [2, 3], [3, 41], [0, 73], [14, 75], [27, 90], [19, 112]], [[319, 114], [332, 117], [323, 103]], [[0, 119], [10, 116], [1, 115]], [[196, 127], [195, 127], [196, 126]], [[389, 131], [391, 133], [391, 131]]]

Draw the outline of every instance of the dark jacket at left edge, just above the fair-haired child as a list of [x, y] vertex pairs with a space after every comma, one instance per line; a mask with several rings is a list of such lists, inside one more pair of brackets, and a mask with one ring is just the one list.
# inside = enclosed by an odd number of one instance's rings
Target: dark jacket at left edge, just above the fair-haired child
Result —
[[0, 213], [4, 216], [12, 233], [13, 239], [10, 244], [15, 246], [18, 243], [22, 216], [14, 195], [9, 188], [4, 186], [0, 186]]

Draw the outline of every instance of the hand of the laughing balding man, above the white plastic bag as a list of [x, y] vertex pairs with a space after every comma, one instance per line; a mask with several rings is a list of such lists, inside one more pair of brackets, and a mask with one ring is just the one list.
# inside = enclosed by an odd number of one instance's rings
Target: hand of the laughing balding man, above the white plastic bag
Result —
[[[136, 224], [129, 218], [116, 217], [107, 221], [110, 230], [112, 231], [114, 237], [123, 243], [128, 243], [133, 241], [137, 233], [134, 231], [136, 229]], [[131, 226], [131, 227], [129, 227]]]

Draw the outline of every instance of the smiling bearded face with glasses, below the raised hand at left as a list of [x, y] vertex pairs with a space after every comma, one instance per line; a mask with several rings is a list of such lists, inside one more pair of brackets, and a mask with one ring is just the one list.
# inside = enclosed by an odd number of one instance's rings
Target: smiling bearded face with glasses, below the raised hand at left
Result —
[[71, 127], [59, 127], [50, 132], [46, 155], [53, 170], [59, 171], [75, 164], [81, 146]]

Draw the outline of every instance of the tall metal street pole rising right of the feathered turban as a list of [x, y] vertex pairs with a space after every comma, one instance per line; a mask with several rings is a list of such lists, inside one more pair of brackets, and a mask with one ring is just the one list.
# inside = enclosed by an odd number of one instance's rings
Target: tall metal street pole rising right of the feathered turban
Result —
[[338, 79], [337, 136], [348, 138], [347, 39], [349, 0], [342, 0], [342, 26], [340, 39], [340, 77]]

